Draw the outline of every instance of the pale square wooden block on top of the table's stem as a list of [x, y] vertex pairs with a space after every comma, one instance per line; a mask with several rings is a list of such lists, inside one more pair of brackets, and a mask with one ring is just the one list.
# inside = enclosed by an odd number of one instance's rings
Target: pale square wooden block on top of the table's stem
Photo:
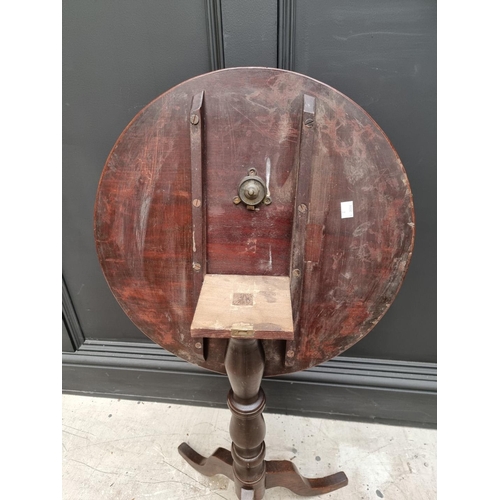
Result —
[[207, 274], [191, 335], [293, 340], [290, 278]]

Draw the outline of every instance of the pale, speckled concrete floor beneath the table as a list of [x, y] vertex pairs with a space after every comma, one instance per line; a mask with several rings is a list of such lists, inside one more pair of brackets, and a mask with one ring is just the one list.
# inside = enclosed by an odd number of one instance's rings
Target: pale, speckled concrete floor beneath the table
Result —
[[[236, 499], [224, 476], [204, 477], [177, 453], [230, 447], [226, 409], [64, 395], [63, 499]], [[293, 460], [319, 477], [343, 470], [349, 485], [309, 498], [434, 500], [436, 431], [264, 413], [268, 460]], [[298, 499], [284, 488], [266, 500]]]

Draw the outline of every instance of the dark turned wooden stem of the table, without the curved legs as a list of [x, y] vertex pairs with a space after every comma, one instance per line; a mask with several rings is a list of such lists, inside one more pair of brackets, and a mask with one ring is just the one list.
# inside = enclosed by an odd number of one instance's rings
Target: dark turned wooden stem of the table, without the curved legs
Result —
[[260, 388], [264, 350], [260, 341], [230, 339], [225, 365], [231, 384], [227, 404], [232, 413], [229, 434], [233, 440], [231, 454], [236, 494], [238, 498], [259, 500], [264, 497], [266, 478], [266, 424], [262, 416], [266, 397]]

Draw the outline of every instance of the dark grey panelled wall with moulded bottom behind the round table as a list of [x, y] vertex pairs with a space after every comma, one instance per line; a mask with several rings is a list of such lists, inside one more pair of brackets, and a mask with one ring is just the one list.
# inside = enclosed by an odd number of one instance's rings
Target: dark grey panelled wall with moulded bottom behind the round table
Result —
[[[331, 85], [371, 114], [398, 151], [417, 223], [407, 278], [380, 323], [342, 356], [354, 358], [355, 368], [335, 360], [320, 371], [351, 377], [366, 369], [363, 384], [370, 385], [381, 380], [369, 378], [376, 365], [391, 380], [406, 380], [406, 389], [420, 390], [412, 384], [420, 376], [433, 379], [436, 361], [436, 5], [430, 0], [63, 2], [64, 389], [161, 399], [148, 393], [154, 381], [131, 382], [142, 369], [137, 360], [150, 356], [168, 361], [170, 371], [187, 369], [156, 350], [114, 300], [95, 252], [93, 205], [106, 157], [142, 107], [190, 77], [235, 66], [284, 67]], [[123, 368], [121, 378], [98, 375], [106, 363]], [[155, 365], [158, 377], [165, 369]], [[199, 381], [204, 375], [196, 373]], [[191, 379], [179, 380], [188, 387]], [[364, 416], [357, 408], [352, 415]], [[376, 408], [369, 413], [377, 417]]]

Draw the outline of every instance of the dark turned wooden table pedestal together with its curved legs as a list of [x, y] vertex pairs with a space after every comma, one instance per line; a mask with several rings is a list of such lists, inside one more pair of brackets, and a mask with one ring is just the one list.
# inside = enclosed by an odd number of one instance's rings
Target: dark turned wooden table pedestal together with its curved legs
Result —
[[188, 444], [179, 446], [184, 459], [205, 476], [224, 474], [234, 482], [241, 500], [261, 500], [266, 489], [282, 486], [297, 495], [314, 496], [347, 486], [343, 472], [309, 479], [303, 477], [292, 462], [264, 460], [266, 425], [262, 411], [266, 396], [260, 387], [264, 372], [264, 350], [257, 339], [231, 338], [225, 365], [231, 390], [227, 404], [231, 411], [229, 435], [231, 451], [217, 448], [208, 458], [196, 453]]

